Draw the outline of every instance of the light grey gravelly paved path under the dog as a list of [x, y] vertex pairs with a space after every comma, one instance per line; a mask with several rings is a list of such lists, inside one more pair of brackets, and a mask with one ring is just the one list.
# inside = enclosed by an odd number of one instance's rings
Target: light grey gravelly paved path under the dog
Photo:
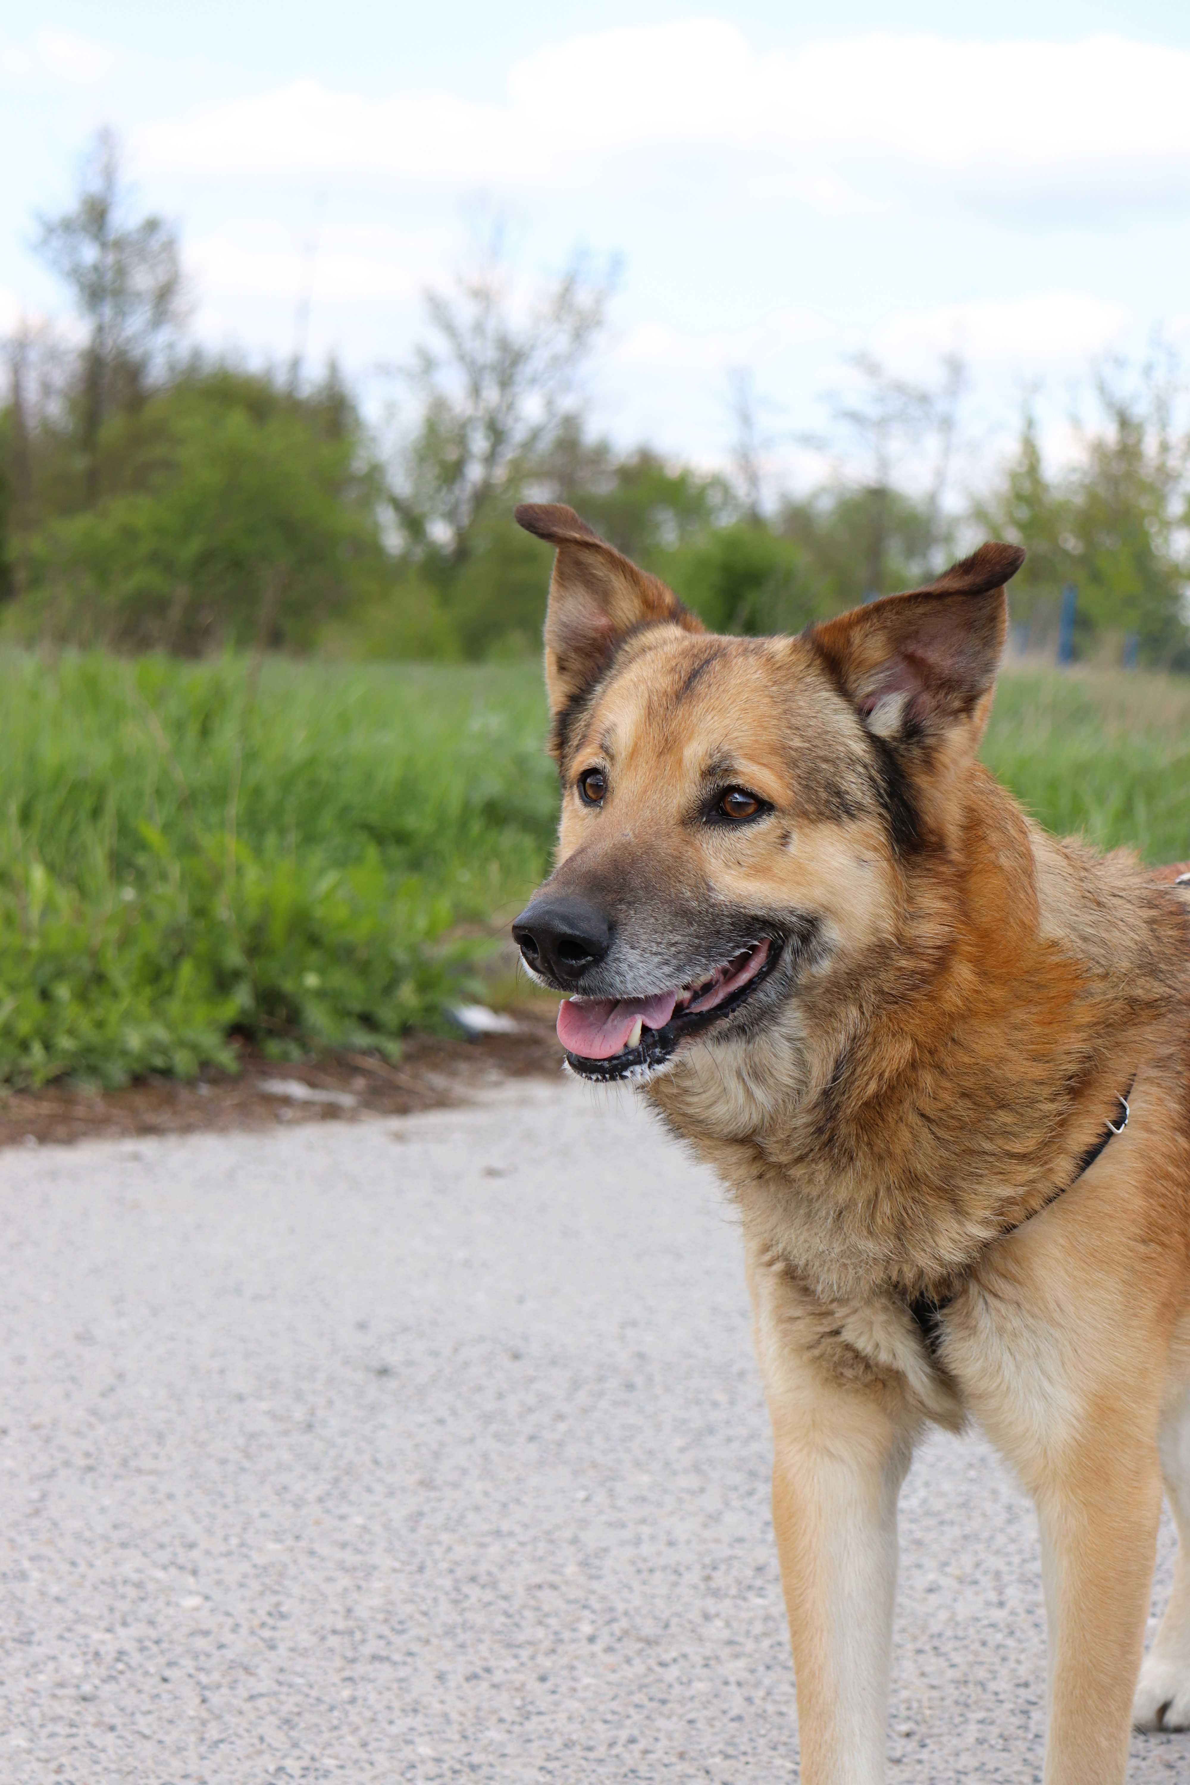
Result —
[[[739, 1242], [628, 1096], [0, 1178], [2, 1780], [796, 1778]], [[890, 1776], [1038, 1780], [1042, 1685], [1031, 1514], [938, 1437]]]

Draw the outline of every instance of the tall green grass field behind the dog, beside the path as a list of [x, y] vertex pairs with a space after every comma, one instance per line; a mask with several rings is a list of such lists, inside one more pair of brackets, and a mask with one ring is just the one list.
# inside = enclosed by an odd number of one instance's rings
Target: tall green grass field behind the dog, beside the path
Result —
[[[0, 1082], [393, 1048], [546, 866], [537, 664], [0, 657]], [[1190, 855], [1190, 682], [1004, 677], [1042, 823]]]

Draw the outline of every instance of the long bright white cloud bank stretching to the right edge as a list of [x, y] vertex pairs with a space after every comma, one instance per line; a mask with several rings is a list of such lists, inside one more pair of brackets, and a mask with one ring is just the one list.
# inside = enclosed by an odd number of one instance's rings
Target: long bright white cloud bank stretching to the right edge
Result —
[[[906, 178], [978, 203], [1186, 198], [1190, 52], [1124, 37], [867, 34], [755, 48], [694, 20], [571, 37], [500, 104], [298, 80], [139, 132], [159, 173], [587, 196], [674, 182], [864, 211]], [[901, 195], [905, 196], [905, 195]]]

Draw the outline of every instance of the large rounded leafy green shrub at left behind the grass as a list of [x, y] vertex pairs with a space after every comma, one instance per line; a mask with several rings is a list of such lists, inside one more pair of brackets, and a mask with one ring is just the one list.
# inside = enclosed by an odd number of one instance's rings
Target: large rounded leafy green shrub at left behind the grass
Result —
[[346, 400], [184, 378], [103, 437], [109, 493], [25, 543], [9, 630], [137, 652], [309, 646], [393, 587]]

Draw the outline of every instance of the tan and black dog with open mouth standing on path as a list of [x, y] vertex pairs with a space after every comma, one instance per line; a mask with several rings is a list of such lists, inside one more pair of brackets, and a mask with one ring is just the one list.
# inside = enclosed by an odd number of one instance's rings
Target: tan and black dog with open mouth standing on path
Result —
[[803, 1785], [885, 1778], [897, 1494], [969, 1421], [1038, 1512], [1045, 1785], [1119, 1785], [1133, 1721], [1190, 1726], [1190, 898], [976, 760], [1017, 546], [744, 639], [516, 518], [557, 548], [562, 818], [512, 934], [571, 1073], [739, 1208]]

